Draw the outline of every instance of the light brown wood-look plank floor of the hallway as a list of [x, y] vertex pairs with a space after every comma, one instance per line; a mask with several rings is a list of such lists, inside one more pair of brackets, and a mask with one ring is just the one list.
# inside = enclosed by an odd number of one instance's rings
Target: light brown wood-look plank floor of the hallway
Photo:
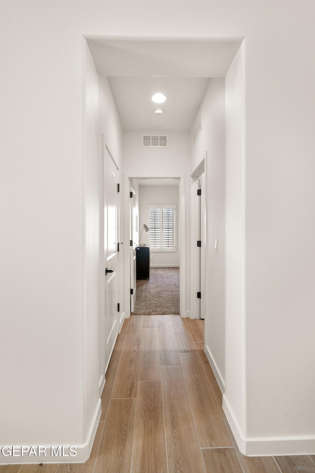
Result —
[[0, 473], [315, 473], [315, 455], [245, 457], [203, 351], [203, 321], [132, 315], [106, 373], [85, 464], [0, 466]]

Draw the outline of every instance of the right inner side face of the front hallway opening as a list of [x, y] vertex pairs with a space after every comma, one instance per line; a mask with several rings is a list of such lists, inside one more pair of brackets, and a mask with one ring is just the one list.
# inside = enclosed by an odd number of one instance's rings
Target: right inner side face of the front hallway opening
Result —
[[[247, 437], [245, 332], [245, 43], [225, 77], [225, 394], [239, 444]], [[243, 446], [244, 447], [244, 446]]]

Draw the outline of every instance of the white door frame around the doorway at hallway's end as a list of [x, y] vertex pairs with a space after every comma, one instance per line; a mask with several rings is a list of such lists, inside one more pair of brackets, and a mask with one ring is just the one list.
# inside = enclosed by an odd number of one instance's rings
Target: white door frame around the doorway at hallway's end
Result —
[[[185, 178], [181, 176], [127, 176], [124, 175], [125, 191], [125, 222], [130, 222], [130, 203], [129, 203], [129, 182], [131, 179], [178, 179], [179, 180], [179, 251], [180, 251], [180, 314], [182, 317], [189, 317], [186, 301], [186, 195]], [[125, 241], [129, 243], [129, 224], [125, 224]], [[125, 254], [125, 317], [130, 317], [130, 257], [129, 251]]]

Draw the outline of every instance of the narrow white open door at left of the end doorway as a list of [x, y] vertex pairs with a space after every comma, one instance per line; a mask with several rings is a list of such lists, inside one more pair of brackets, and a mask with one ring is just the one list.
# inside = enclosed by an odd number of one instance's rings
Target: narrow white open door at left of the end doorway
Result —
[[[132, 196], [132, 197], [131, 197]], [[138, 229], [136, 215], [136, 194], [132, 186], [132, 179], [130, 179], [130, 312], [133, 312], [134, 304], [137, 297], [137, 276], [136, 276], [136, 243], [135, 237]]]

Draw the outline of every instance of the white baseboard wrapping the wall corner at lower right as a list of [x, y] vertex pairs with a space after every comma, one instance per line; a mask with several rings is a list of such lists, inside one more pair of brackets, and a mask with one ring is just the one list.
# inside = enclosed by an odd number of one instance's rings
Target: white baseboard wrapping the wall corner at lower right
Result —
[[278, 455], [314, 455], [315, 436], [245, 438], [225, 394], [223, 410], [240, 452], [249, 457]]

